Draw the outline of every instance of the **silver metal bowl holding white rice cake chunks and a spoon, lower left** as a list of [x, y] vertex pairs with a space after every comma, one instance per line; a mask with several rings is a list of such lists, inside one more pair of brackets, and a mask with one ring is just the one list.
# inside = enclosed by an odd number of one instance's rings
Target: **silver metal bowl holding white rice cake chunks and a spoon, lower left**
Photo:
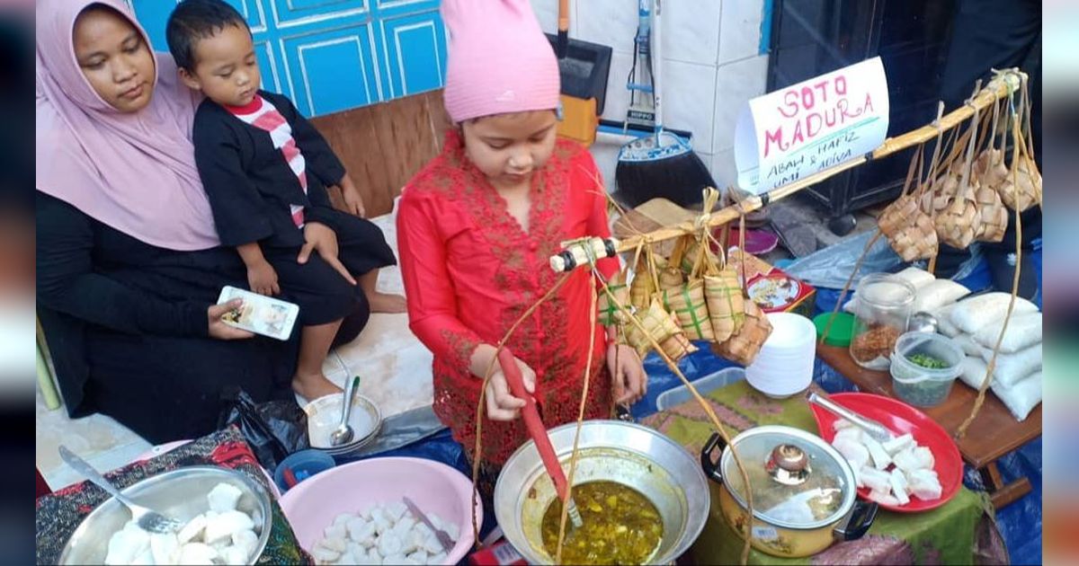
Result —
[[[121, 492], [136, 503], [186, 522], [209, 509], [206, 494], [219, 483], [238, 488], [242, 495], [237, 509], [255, 515], [259, 543], [247, 563], [255, 564], [270, 539], [273, 513], [267, 491], [243, 472], [214, 466], [190, 466], [147, 478]], [[108, 498], [82, 520], [60, 552], [59, 563], [104, 564], [109, 538], [131, 517], [127, 508], [115, 498]]]

